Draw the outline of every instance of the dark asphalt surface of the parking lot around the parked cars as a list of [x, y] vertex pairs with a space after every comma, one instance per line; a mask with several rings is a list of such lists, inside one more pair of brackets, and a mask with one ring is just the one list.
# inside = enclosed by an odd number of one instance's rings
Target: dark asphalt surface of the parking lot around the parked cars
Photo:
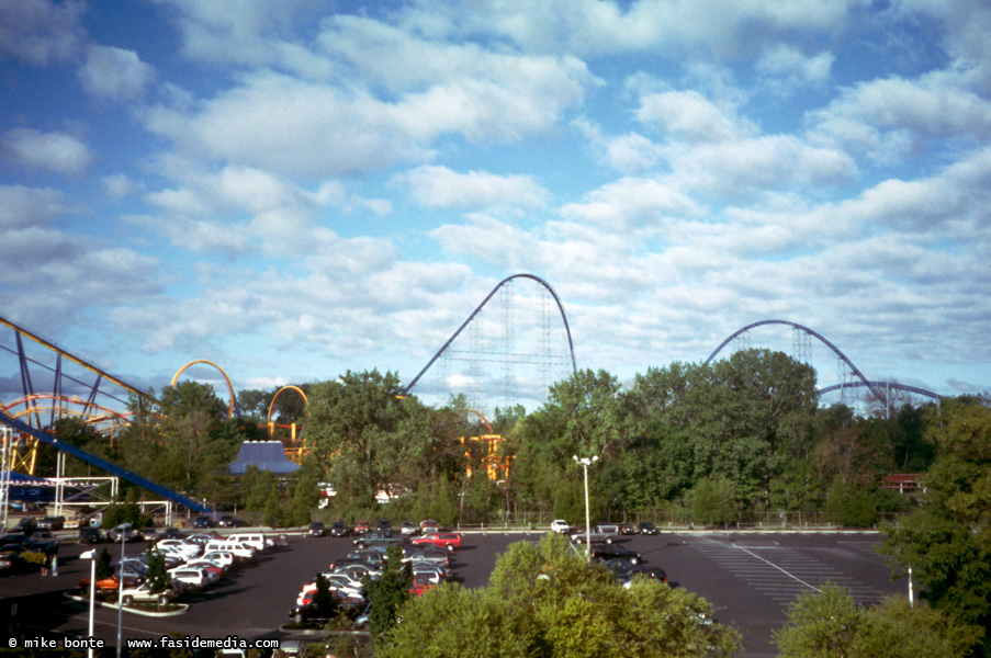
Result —
[[[466, 587], [485, 585], [496, 557], [516, 541], [538, 541], [541, 533], [471, 533], [455, 553], [454, 575]], [[645, 564], [663, 567], [671, 583], [709, 600], [720, 622], [735, 625], [751, 658], [775, 655], [772, 631], [784, 624], [790, 601], [824, 582], [847, 587], [862, 603], [905, 590], [892, 582], [890, 568], [874, 553], [872, 533], [698, 533], [665, 532], [629, 536], [622, 543], [639, 551]], [[114, 554], [120, 545], [110, 546]], [[284, 549], [263, 554], [257, 564], [200, 594], [188, 597], [191, 610], [181, 616], [156, 619], [125, 612], [123, 637], [181, 636], [290, 638], [285, 624], [301, 586], [342, 557], [350, 537], [291, 536]], [[87, 636], [86, 603], [68, 600], [67, 590], [89, 576], [89, 561], [78, 555], [85, 547], [67, 545], [59, 552], [58, 576], [37, 572], [0, 578], [0, 615], [13, 611], [20, 623], [42, 637]], [[144, 549], [128, 544], [128, 553]], [[95, 636], [116, 640], [117, 611], [97, 610]]]

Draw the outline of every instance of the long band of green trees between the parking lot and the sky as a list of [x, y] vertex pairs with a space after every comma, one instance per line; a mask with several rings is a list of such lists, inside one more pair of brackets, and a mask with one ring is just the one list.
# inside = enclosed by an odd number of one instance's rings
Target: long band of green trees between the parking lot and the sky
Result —
[[[605, 371], [581, 371], [554, 384], [527, 413], [496, 409], [503, 436], [491, 479], [492, 442], [458, 397], [439, 409], [402, 396], [396, 374], [348, 372], [291, 392], [238, 393], [240, 418], [209, 385], [181, 382], [132, 400], [132, 424], [112, 441], [74, 420], [60, 438], [167, 487], [273, 523], [302, 522], [320, 483], [338, 495], [327, 517], [436, 518], [444, 524], [584, 519], [582, 469], [573, 456], [598, 456], [589, 470], [596, 520], [686, 519], [699, 525], [748, 521], [766, 512], [827, 514], [838, 524], [872, 525], [905, 499], [879, 487], [883, 475], [924, 473], [935, 458], [926, 432], [939, 407], [877, 400], [857, 416], [820, 407], [815, 373], [784, 353], [736, 352], [713, 364], [673, 363], [627, 386]], [[290, 443], [295, 423], [308, 454], [292, 478], [227, 475], [245, 440]], [[304, 429], [305, 428], [305, 429]], [[48, 450], [54, 466], [54, 451]], [[44, 462], [44, 460], [43, 460]], [[69, 475], [90, 470], [69, 466]], [[375, 502], [386, 492], [391, 502]], [[132, 497], [138, 492], [132, 494]], [[309, 506], [311, 509], [307, 509]]]

